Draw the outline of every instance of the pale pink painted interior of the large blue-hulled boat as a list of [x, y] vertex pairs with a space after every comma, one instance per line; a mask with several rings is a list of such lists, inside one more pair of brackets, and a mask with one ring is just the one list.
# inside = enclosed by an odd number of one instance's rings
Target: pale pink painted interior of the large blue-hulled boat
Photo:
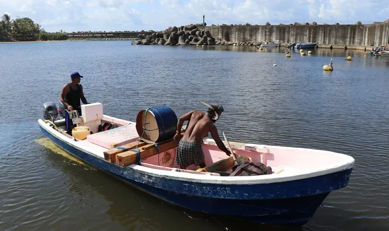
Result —
[[[102, 106], [83, 105], [82, 116], [84, 122], [82, 125], [89, 126], [93, 134], [87, 136], [84, 140], [76, 139], [66, 133], [65, 127], [57, 127], [57, 131], [63, 135], [76, 141], [77, 146], [84, 150], [90, 151], [93, 154], [104, 158], [104, 151], [121, 146], [139, 139], [139, 134], [136, 130], [136, 123], [103, 115]], [[88, 108], [91, 109], [88, 111]], [[92, 112], [92, 113], [89, 113]], [[85, 113], [85, 114], [84, 114]], [[91, 114], [93, 114], [91, 116]], [[115, 128], [98, 132], [98, 126], [104, 122], [110, 122], [115, 125]], [[227, 137], [228, 138], [228, 137]], [[224, 142], [226, 144], [226, 142]], [[236, 157], [246, 158], [253, 162], [261, 162], [272, 168], [273, 173], [279, 175], [298, 174], [302, 172], [314, 171], [317, 169], [326, 169], [336, 166], [339, 163], [348, 161], [347, 155], [340, 155], [330, 151], [303, 149], [303, 148], [288, 148], [279, 146], [264, 146], [258, 144], [247, 144], [242, 142], [229, 142]], [[231, 173], [233, 162], [232, 157], [227, 156], [221, 151], [213, 139], [203, 139], [202, 149], [205, 155], [205, 169], [218, 169], [220, 171], [203, 172], [196, 171], [199, 166], [189, 166], [186, 170], [179, 169], [175, 163], [177, 148], [156, 154], [142, 160], [141, 165], [144, 167], [166, 170], [166, 171], [184, 171], [195, 174], [207, 174], [219, 176], [218, 172]], [[314, 151], [314, 153], [313, 153]], [[228, 162], [228, 164], [226, 164]]]

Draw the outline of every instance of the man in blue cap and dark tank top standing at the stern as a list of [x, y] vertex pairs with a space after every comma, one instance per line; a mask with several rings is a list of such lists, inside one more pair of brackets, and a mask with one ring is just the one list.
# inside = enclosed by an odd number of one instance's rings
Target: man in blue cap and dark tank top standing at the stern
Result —
[[[67, 111], [78, 111], [78, 115], [81, 115], [81, 103], [88, 104], [84, 97], [84, 92], [82, 91], [81, 76], [78, 72], [73, 72], [70, 75], [70, 83], [66, 84], [62, 87], [61, 95], [59, 97], [59, 101], [64, 105]], [[65, 122], [66, 122], [66, 130], [69, 134], [71, 134], [71, 130], [73, 129], [73, 122], [69, 117], [69, 114], [65, 111]]]

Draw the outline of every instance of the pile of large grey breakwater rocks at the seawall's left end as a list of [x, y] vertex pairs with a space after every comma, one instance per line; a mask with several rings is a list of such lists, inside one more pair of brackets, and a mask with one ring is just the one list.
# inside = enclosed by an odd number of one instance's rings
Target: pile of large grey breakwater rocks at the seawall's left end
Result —
[[215, 45], [215, 38], [207, 29], [199, 30], [196, 25], [173, 26], [163, 32], [156, 32], [152, 35], [138, 35], [138, 45]]

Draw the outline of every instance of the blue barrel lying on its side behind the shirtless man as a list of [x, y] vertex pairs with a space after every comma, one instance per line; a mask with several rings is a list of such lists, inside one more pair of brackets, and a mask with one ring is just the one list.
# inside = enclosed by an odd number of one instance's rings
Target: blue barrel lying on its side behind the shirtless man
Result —
[[167, 105], [142, 110], [136, 119], [139, 136], [152, 142], [173, 138], [177, 130], [177, 115]]

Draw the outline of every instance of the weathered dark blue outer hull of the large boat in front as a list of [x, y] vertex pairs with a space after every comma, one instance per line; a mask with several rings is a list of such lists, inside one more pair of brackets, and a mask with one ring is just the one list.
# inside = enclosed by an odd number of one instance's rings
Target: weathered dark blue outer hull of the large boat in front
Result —
[[51, 141], [79, 159], [158, 198], [194, 211], [260, 224], [304, 225], [331, 191], [348, 184], [352, 172], [347, 169], [324, 176], [259, 185], [192, 183], [147, 175], [109, 163], [64, 142], [42, 126], [40, 129]]

